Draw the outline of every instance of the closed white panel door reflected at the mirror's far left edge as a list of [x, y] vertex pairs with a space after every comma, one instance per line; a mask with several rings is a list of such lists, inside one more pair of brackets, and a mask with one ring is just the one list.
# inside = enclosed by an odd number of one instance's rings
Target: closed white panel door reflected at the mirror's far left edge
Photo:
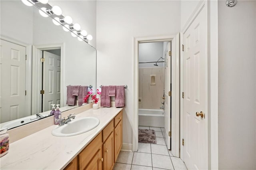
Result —
[[25, 116], [26, 47], [0, 40], [1, 123]]

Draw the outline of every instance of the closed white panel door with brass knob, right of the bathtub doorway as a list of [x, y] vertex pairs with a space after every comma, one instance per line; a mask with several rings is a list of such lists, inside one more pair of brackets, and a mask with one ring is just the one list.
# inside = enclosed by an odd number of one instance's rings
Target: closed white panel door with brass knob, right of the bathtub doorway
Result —
[[[208, 169], [207, 54], [205, 7], [184, 34], [184, 162]], [[196, 113], [204, 113], [203, 117]]]

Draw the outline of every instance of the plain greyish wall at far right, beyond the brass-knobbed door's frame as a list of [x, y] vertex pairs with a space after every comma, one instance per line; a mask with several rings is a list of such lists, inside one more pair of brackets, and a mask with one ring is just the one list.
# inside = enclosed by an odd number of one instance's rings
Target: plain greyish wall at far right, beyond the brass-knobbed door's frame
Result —
[[219, 169], [256, 169], [256, 1], [218, 3]]

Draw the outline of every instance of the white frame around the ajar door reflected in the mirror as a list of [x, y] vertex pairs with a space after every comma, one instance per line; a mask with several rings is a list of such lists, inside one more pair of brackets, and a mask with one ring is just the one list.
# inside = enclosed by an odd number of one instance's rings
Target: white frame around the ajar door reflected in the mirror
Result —
[[[41, 95], [39, 94], [42, 85], [42, 50], [60, 49], [60, 91], [64, 91], [64, 43], [53, 45], [33, 45], [32, 53], [34, 54], [32, 67], [32, 113], [41, 113], [39, 107], [41, 103]], [[60, 93], [60, 106], [64, 106], [64, 94]]]

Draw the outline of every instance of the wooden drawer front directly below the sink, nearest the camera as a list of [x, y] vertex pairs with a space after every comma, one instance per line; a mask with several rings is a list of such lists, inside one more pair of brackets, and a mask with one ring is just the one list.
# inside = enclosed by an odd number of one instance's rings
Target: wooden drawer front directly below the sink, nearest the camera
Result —
[[84, 148], [84, 150], [82, 150], [82, 152], [78, 154], [78, 165], [80, 170], [83, 170], [87, 166], [87, 164], [92, 159], [92, 156], [94, 156], [96, 152], [98, 152], [99, 148], [101, 150], [101, 146], [102, 146], [102, 132], [100, 132], [94, 138], [94, 140], [92, 140], [90, 144], [88, 144], [86, 148]]

